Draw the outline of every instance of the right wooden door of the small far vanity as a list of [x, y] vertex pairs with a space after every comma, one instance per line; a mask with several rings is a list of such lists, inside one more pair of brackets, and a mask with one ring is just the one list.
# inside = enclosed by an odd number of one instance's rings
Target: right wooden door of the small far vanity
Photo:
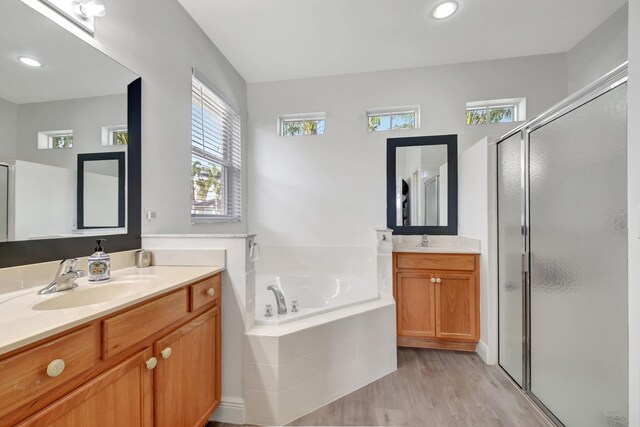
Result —
[[436, 275], [436, 336], [478, 339], [477, 279], [474, 274]]

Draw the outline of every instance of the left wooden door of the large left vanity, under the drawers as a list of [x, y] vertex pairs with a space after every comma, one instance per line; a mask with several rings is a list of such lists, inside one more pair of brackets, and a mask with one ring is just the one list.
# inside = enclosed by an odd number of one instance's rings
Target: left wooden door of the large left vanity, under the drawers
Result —
[[20, 427], [151, 427], [153, 375], [147, 348], [28, 418]]

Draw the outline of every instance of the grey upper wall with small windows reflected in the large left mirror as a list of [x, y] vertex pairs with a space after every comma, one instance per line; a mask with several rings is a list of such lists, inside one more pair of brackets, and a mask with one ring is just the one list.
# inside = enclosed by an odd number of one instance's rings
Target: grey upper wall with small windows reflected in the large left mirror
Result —
[[[18, 105], [17, 158], [76, 170], [79, 153], [126, 151], [102, 145], [102, 127], [127, 123], [127, 96], [109, 95]], [[73, 130], [73, 147], [39, 150], [38, 132]], [[75, 189], [74, 189], [75, 191]]]

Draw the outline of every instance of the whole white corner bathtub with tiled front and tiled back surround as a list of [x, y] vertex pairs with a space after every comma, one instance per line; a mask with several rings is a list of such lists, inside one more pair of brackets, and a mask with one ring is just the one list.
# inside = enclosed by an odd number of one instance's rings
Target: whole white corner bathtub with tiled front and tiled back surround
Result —
[[[262, 248], [245, 344], [246, 423], [285, 424], [397, 369], [395, 300], [379, 291], [391, 287], [391, 232], [382, 235], [367, 247]], [[283, 291], [286, 315], [270, 284]]]

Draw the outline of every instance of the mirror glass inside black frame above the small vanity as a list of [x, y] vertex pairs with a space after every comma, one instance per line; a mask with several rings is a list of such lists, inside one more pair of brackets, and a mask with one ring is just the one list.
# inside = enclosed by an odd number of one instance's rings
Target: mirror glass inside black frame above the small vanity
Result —
[[396, 225], [447, 225], [447, 145], [396, 149]]

